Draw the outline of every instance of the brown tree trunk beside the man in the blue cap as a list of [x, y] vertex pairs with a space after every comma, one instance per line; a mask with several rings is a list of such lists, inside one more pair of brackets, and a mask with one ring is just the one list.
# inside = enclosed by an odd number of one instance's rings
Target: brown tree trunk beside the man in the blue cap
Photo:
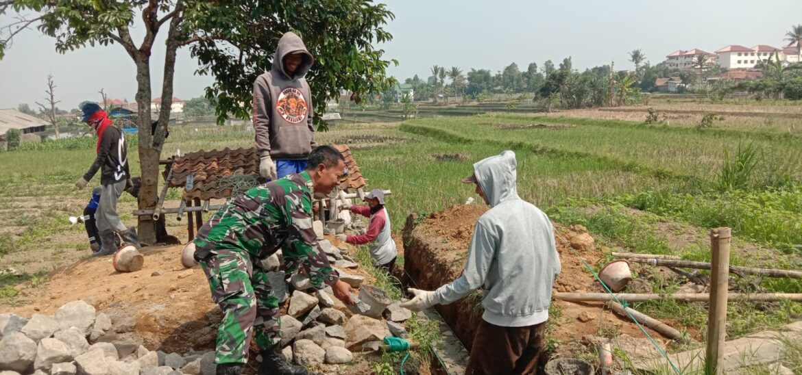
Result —
[[[136, 107], [139, 114], [136, 125], [139, 129], [140, 171], [142, 186], [140, 187], [139, 208], [154, 209], [159, 199], [159, 151], [153, 147], [151, 135], [151, 77], [149, 54], [137, 54], [136, 63]], [[140, 241], [156, 244], [156, 225], [151, 216], [138, 216], [138, 234]]]

